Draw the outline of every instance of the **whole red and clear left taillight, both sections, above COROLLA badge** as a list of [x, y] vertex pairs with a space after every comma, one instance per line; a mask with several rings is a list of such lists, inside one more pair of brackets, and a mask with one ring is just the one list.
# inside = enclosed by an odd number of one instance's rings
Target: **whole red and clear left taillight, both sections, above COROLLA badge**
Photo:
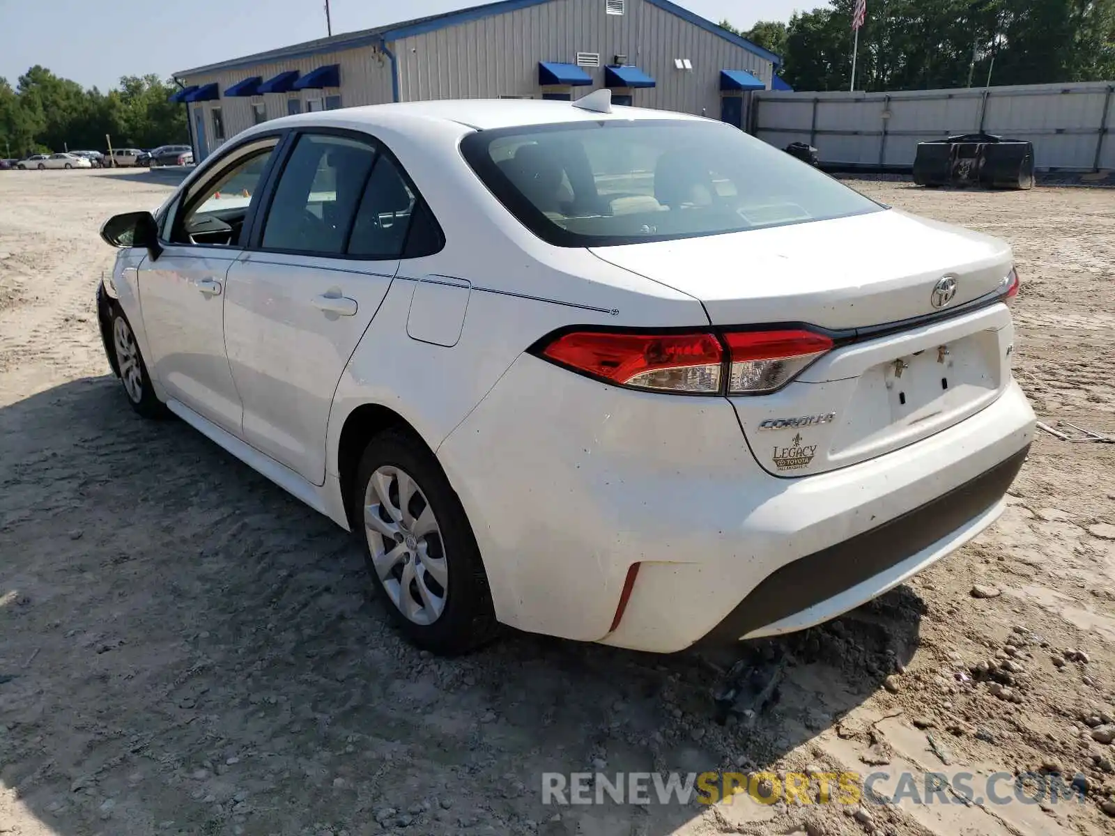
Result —
[[763, 395], [788, 383], [832, 349], [806, 330], [714, 334], [562, 334], [539, 353], [574, 371], [619, 386], [688, 395]]

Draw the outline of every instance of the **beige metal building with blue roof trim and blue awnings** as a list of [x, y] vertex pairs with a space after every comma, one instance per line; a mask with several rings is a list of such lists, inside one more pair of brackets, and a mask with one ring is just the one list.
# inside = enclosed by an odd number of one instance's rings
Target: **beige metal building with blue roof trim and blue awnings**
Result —
[[175, 74], [198, 162], [303, 110], [443, 98], [579, 98], [748, 126], [778, 56], [670, 0], [502, 0]]

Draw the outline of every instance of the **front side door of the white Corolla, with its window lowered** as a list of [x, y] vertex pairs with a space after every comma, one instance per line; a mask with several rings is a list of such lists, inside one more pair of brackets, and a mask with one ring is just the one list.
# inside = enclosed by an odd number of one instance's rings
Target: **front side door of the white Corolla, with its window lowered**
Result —
[[172, 203], [163, 252], [139, 269], [149, 371], [171, 398], [236, 436], [242, 409], [224, 349], [225, 274], [243, 252], [279, 140], [255, 138], [222, 155]]

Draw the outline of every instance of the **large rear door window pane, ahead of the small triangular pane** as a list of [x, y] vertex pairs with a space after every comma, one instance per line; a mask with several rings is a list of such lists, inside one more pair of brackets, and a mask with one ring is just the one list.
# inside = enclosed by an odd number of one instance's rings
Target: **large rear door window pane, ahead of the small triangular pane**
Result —
[[275, 186], [263, 247], [342, 254], [376, 156], [358, 139], [300, 136]]

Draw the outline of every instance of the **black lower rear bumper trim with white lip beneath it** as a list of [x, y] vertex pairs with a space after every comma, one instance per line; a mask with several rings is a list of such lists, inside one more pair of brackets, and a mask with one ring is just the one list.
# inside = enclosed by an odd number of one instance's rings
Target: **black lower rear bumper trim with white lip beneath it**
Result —
[[705, 640], [802, 630], [893, 589], [998, 518], [1028, 451], [1029, 445], [913, 511], [772, 572]]

